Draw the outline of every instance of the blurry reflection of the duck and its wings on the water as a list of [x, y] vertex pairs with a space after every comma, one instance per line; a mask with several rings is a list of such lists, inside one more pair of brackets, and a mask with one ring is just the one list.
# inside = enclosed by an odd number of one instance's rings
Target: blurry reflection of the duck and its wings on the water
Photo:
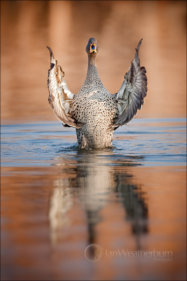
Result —
[[79, 202], [87, 217], [88, 242], [93, 244], [97, 225], [104, 219], [102, 210], [116, 202], [123, 206], [122, 219], [130, 222], [139, 249], [139, 236], [148, 231], [148, 210], [141, 187], [132, 184], [130, 167], [139, 165], [141, 159], [143, 156], [124, 156], [113, 149], [78, 150], [73, 156], [58, 156], [55, 161], [62, 166], [62, 174], [52, 183], [49, 208], [52, 243], [62, 239], [63, 227], [71, 224], [66, 214]]

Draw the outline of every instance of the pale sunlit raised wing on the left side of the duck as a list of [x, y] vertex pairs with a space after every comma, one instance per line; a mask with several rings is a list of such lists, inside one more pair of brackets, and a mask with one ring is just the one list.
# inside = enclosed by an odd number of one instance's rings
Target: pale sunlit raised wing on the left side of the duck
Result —
[[48, 70], [48, 101], [50, 107], [64, 126], [81, 128], [84, 123], [77, 122], [71, 114], [71, 102], [73, 102], [75, 95], [67, 88], [66, 80], [64, 79], [65, 74], [61, 66], [58, 65], [57, 60], [54, 60], [51, 48], [47, 48], [51, 56], [51, 67]]

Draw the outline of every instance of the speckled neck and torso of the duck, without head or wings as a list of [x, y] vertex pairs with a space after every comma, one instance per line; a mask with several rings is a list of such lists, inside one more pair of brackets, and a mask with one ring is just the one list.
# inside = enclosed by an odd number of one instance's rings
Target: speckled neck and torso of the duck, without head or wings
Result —
[[84, 123], [76, 129], [80, 148], [112, 146], [114, 131], [107, 131], [111, 119], [117, 116], [117, 104], [101, 82], [97, 67], [89, 64], [86, 79], [72, 103], [73, 117]]

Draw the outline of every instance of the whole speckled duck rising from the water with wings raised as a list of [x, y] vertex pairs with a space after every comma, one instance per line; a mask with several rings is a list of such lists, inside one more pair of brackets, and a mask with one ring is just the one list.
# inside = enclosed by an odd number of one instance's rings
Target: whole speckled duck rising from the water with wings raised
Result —
[[112, 147], [114, 131], [129, 124], [142, 108], [147, 94], [147, 76], [145, 67], [140, 66], [141, 43], [142, 39], [135, 48], [135, 58], [131, 60], [121, 88], [114, 94], [109, 93], [99, 77], [96, 65], [99, 47], [95, 38], [90, 38], [86, 46], [88, 70], [77, 94], [68, 89], [65, 73], [54, 59], [52, 49], [47, 47], [51, 57], [48, 102], [63, 126], [76, 129], [80, 149]]

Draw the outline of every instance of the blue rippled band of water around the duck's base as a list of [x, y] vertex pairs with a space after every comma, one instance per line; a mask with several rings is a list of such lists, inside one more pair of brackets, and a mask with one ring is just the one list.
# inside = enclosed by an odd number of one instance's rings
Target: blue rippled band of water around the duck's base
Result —
[[[143, 125], [142, 125], [143, 124]], [[80, 150], [73, 128], [58, 121], [2, 125], [2, 164], [8, 166], [51, 165], [57, 159], [81, 160], [90, 155], [112, 165], [121, 161], [150, 165], [186, 165], [185, 119], [136, 119], [115, 131], [112, 149]], [[112, 158], [111, 158], [112, 157]], [[137, 159], [137, 160], [136, 160]]]

